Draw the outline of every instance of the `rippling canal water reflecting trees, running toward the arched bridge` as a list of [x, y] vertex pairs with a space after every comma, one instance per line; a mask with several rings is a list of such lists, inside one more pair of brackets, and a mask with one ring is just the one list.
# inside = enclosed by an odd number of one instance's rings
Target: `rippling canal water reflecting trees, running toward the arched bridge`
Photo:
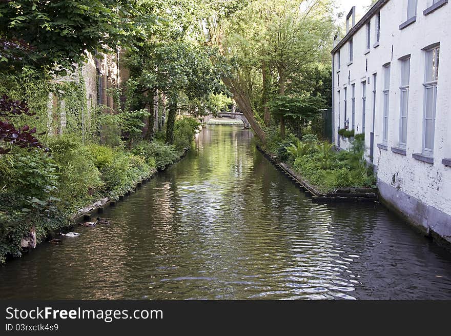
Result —
[[382, 206], [315, 204], [240, 126], [78, 238], [0, 267], [0, 299], [451, 299], [451, 254]]

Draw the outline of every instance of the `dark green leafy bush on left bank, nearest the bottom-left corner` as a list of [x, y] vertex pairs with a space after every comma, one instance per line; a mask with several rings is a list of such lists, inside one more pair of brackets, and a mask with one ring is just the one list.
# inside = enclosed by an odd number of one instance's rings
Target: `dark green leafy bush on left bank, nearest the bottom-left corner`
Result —
[[30, 227], [41, 241], [64, 222], [52, 196], [57, 187], [57, 166], [48, 154], [14, 148], [0, 155], [0, 264], [8, 254], [21, 255], [20, 240]]

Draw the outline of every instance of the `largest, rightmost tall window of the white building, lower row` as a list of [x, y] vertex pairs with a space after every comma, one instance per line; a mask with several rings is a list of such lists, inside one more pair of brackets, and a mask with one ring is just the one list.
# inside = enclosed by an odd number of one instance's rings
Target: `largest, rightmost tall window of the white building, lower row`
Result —
[[437, 80], [439, 76], [440, 47], [426, 50], [424, 76], [423, 154], [434, 152], [435, 114], [437, 107]]

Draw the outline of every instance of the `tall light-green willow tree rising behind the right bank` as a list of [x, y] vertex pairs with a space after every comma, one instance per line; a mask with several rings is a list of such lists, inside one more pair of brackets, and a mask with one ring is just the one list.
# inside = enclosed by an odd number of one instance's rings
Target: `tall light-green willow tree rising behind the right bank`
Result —
[[[216, 25], [218, 26], [218, 25]], [[230, 15], [223, 29], [215, 27], [217, 44], [236, 69], [228, 84], [238, 91], [241, 104], [254, 109], [258, 103], [268, 121], [271, 80], [279, 96], [305, 65], [329, 52], [333, 31], [330, 0], [256, 0]], [[272, 73], [274, 70], [274, 74]], [[285, 118], [278, 113], [281, 136]]]

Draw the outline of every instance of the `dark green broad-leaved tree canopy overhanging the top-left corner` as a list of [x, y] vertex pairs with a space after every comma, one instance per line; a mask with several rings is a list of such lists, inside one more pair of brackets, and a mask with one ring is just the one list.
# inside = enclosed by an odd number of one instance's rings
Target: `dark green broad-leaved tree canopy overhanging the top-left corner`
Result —
[[[110, 52], [137, 33], [142, 14], [134, 2], [111, 0], [2, 1], [0, 62], [9, 71], [23, 67], [65, 72], [83, 63], [88, 51]], [[0, 44], [3, 46], [3, 43]], [[55, 67], [55, 64], [58, 67]]]

